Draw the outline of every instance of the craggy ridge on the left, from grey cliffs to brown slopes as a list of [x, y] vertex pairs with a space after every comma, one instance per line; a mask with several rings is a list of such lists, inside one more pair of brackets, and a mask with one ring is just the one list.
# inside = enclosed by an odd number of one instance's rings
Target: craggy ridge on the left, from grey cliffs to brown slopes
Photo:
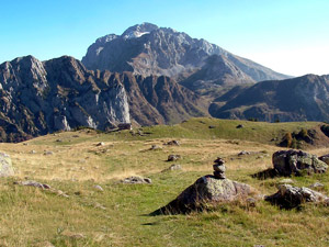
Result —
[[0, 142], [79, 126], [171, 124], [207, 115], [207, 102], [167, 77], [88, 70], [68, 56], [0, 65]]

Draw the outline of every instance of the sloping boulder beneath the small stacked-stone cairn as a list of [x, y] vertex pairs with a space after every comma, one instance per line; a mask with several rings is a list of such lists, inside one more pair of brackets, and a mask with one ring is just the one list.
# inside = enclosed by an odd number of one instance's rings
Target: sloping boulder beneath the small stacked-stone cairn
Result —
[[229, 179], [217, 179], [207, 175], [197, 179], [168, 205], [154, 212], [155, 214], [189, 213], [203, 210], [206, 204], [231, 202], [247, 198], [251, 188]]

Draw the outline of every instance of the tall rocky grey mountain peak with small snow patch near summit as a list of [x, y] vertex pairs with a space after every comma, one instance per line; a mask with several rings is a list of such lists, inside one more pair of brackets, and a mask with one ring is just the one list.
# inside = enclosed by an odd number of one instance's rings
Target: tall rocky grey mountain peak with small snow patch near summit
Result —
[[202, 81], [236, 85], [287, 78], [205, 40], [150, 23], [132, 26], [122, 35], [98, 38], [88, 48], [82, 63], [89, 69], [185, 79], [184, 85], [191, 83], [192, 88]]

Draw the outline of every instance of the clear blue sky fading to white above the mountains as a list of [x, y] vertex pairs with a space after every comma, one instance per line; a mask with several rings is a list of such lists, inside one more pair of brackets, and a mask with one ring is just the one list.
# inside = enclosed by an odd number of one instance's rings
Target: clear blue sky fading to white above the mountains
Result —
[[328, 0], [0, 0], [0, 63], [81, 59], [105, 34], [151, 22], [276, 71], [329, 74]]

